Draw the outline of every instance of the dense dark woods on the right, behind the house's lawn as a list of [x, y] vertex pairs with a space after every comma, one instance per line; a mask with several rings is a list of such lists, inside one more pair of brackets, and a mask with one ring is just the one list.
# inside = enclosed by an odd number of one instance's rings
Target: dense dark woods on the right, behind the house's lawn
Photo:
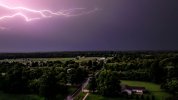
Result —
[[116, 55], [104, 68], [117, 71], [123, 80], [154, 82], [168, 92], [178, 93], [178, 54], [175, 52]]

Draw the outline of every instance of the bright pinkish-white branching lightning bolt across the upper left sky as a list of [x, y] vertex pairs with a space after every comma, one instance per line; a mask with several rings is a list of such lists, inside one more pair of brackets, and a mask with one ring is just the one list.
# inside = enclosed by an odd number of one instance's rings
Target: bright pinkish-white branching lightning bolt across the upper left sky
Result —
[[[85, 8], [74, 8], [74, 9], [53, 12], [51, 10], [34, 10], [34, 9], [25, 8], [25, 7], [10, 7], [10, 6], [4, 5], [4, 4], [0, 4], [0, 7], [2, 7], [3, 9], [7, 9], [9, 11], [14, 11], [14, 13], [11, 15], [0, 16], [0, 21], [4, 21], [6, 19], [12, 19], [17, 16], [20, 16], [26, 22], [39, 20], [42, 18], [50, 18], [53, 16], [65, 16], [65, 17], [79, 16], [79, 15], [84, 15], [84, 14], [90, 14], [90, 13], [98, 10], [97, 8], [95, 8], [94, 10], [85, 11], [86, 10]], [[76, 13], [76, 12], [78, 12], [78, 13]], [[33, 14], [37, 14], [38, 16], [30, 17], [25, 13], [33, 13]]]

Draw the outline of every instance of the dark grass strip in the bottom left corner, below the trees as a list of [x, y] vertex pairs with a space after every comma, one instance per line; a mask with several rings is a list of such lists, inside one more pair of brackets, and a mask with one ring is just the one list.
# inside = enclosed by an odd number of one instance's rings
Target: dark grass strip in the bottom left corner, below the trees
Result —
[[0, 92], [0, 100], [44, 100], [44, 98], [37, 95], [16, 95]]

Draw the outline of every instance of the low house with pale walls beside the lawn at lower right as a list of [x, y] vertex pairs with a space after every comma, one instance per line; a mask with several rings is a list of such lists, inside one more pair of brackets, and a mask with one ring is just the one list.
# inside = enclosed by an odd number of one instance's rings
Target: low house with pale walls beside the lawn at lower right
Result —
[[126, 92], [128, 95], [131, 94], [142, 95], [145, 91], [146, 91], [145, 87], [128, 86], [128, 85], [122, 86], [122, 93]]

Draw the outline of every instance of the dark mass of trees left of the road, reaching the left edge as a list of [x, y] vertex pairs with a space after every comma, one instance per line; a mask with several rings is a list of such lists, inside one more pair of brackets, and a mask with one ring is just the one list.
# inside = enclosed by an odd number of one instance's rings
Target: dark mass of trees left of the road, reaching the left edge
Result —
[[81, 84], [88, 72], [75, 61], [67, 61], [56, 67], [59, 63], [50, 62], [51, 67], [27, 67], [18, 62], [2, 62], [0, 90], [13, 94], [37, 94], [47, 100], [55, 100], [58, 94], [67, 95], [67, 83]]

